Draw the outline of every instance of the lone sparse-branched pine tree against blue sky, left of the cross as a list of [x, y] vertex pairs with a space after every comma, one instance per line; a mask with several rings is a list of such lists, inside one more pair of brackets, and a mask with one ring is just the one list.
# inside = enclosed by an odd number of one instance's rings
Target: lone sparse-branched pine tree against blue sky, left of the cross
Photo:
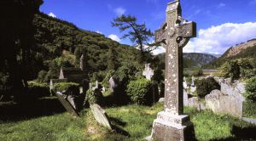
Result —
[[[151, 52], [154, 50], [154, 43], [149, 43], [149, 39], [154, 36], [154, 34], [146, 27], [146, 24], [137, 24], [137, 18], [134, 16], [124, 15], [113, 19], [112, 26], [119, 27], [119, 31], [128, 31], [123, 35], [122, 38], [129, 37], [131, 42], [136, 43], [141, 51], [141, 61], [145, 58], [145, 52]], [[149, 48], [144, 48], [148, 46]]]

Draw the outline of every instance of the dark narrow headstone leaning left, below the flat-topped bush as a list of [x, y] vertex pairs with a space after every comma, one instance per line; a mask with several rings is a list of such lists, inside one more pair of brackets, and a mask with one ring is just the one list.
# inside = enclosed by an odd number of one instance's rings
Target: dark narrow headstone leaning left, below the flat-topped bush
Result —
[[63, 93], [61, 92], [57, 92], [55, 93], [55, 95], [57, 96], [57, 98], [59, 99], [59, 101], [61, 102], [61, 104], [63, 105], [63, 107], [73, 116], [79, 116], [79, 113], [74, 109], [73, 105], [70, 104], [70, 102], [67, 100], [67, 96], [65, 96]]

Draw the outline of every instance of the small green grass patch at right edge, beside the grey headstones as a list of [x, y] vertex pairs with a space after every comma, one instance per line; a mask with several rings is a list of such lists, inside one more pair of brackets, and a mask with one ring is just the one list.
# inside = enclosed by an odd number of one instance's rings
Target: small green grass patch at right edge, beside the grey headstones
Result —
[[256, 102], [243, 103], [242, 115], [249, 118], [256, 118]]

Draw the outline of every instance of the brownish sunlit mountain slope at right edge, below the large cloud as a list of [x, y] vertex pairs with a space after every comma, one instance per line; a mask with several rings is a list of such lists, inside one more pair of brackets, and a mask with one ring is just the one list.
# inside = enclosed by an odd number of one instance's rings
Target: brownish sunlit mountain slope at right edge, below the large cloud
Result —
[[256, 39], [248, 40], [236, 44], [236, 46], [229, 48], [220, 58], [212, 63], [205, 65], [206, 68], [218, 68], [227, 60], [231, 59], [250, 59], [254, 67], [256, 66]]

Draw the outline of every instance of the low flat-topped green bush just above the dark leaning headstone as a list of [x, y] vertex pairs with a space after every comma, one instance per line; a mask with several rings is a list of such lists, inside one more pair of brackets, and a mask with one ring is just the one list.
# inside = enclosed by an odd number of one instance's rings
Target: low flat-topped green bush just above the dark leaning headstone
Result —
[[67, 95], [79, 95], [79, 84], [74, 82], [58, 82], [54, 84], [55, 92], [65, 92]]

